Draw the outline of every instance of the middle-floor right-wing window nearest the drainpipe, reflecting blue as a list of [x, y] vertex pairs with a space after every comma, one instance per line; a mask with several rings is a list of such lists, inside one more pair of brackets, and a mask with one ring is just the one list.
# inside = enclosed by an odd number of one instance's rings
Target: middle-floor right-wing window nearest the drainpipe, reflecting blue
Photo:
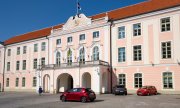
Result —
[[118, 48], [118, 62], [126, 61], [125, 47]]

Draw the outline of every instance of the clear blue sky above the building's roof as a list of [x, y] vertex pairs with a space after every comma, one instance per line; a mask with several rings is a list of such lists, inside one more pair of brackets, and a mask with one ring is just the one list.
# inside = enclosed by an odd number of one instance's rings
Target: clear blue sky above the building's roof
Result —
[[[145, 0], [79, 0], [86, 16]], [[0, 41], [50, 27], [76, 14], [76, 0], [0, 0]]]

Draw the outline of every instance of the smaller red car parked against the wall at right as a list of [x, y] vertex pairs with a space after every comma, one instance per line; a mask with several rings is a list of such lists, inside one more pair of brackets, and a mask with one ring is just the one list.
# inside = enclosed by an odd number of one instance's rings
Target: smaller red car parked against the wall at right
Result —
[[157, 89], [155, 86], [143, 86], [137, 90], [138, 96], [157, 95]]

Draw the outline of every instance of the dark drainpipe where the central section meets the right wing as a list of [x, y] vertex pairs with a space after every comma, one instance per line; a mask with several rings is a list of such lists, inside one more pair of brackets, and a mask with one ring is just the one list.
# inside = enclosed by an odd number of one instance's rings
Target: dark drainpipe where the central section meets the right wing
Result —
[[109, 19], [110, 22], [110, 77], [111, 77], [111, 93], [112, 93], [112, 86], [113, 86], [113, 80], [112, 80], [112, 74], [113, 74], [113, 69], [112, 69], [112, 25], [113, 25], [113, 20]]

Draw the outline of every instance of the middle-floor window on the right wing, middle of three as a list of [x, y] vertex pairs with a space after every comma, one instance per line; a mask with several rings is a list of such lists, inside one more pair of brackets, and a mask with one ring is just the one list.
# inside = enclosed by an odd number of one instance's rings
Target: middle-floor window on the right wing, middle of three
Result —
[[142, 52], [141, 52], [141, 45], [137, 45], [133, 47], [133, 57], [134, 61], [142, 60]]

